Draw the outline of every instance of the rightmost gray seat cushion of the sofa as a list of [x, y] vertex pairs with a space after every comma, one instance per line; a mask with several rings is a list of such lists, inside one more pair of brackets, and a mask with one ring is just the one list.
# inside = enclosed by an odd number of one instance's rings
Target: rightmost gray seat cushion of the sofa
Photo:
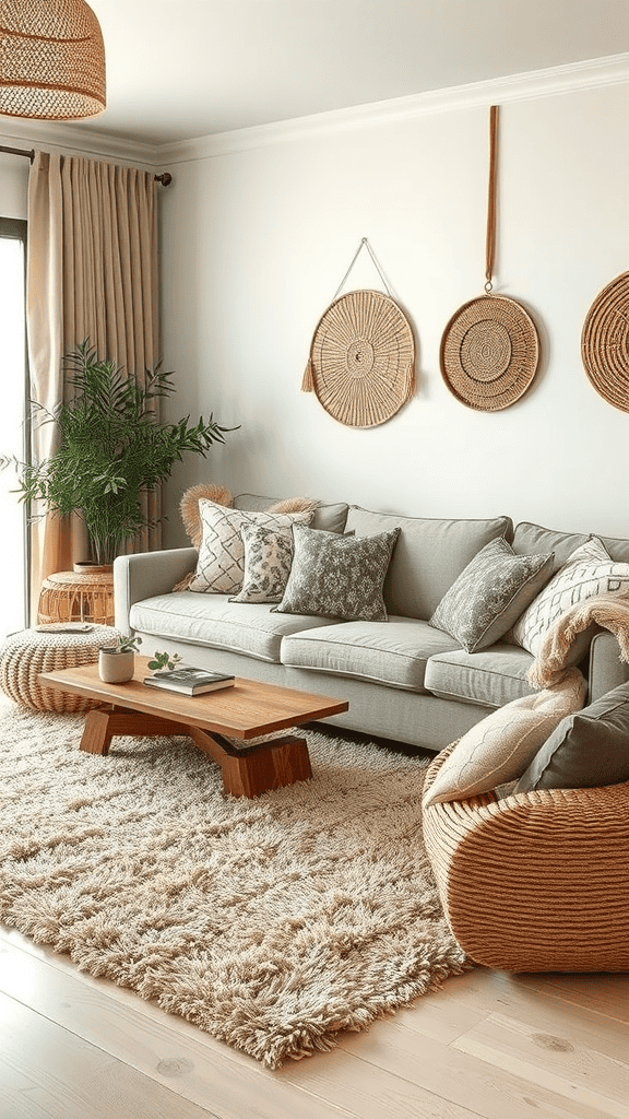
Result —
[[498, 641], [481, 652], [434, 653], [425, 673], [425, 688], [442, 699], [503, 707], [536, 689], [526, 679], [533, 657], [526, 649]]

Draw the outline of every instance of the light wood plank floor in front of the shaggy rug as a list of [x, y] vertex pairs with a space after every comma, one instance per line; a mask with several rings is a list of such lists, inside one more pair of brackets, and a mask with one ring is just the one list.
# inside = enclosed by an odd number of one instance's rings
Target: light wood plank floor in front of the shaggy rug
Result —
[[629, 976], [449, 979], [270, 1072], [0, 927], [0, 1119], [629, 1119]]

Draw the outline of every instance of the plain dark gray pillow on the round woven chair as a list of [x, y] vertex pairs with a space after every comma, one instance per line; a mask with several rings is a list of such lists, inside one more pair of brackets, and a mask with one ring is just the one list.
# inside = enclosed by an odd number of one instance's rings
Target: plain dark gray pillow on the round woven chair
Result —
[[564, 718], [515, 791], [586, 789], [620, 781], [629, 781], [629, 683]]

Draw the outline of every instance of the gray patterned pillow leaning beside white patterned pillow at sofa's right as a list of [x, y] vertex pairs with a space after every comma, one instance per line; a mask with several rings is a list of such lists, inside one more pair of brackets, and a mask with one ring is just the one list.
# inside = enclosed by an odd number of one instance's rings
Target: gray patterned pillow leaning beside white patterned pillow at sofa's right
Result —
[[443, 595], [430, 626], [450, 633], [466, 650], [494, 645], [511, 628], [553, 573], [553, 553], [516, 555], [490, 540]]

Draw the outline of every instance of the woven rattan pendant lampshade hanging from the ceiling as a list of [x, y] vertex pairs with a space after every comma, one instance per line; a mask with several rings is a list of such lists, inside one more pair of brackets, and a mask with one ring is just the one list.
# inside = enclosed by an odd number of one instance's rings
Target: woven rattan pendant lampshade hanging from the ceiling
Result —
[[105, 107], [101, 27], [84, 0], [2, 0], [0, 113], [72, 121]]

